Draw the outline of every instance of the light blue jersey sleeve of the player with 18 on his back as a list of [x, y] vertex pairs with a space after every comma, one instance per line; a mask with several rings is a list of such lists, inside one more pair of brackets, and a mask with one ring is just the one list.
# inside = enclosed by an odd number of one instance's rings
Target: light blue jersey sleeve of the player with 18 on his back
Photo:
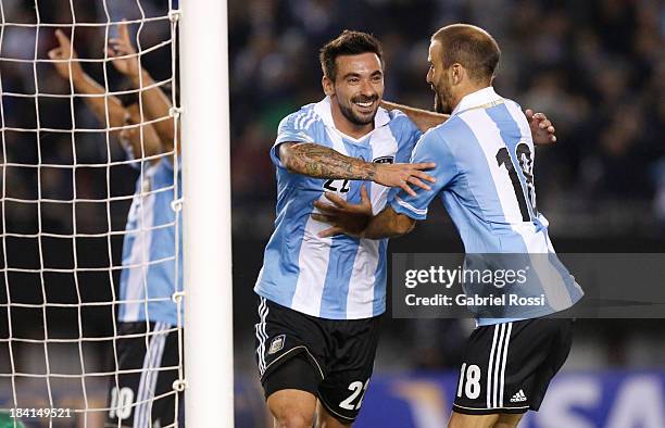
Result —
[[431, 201], [451, 184], [457, 176], [459, 169], [455, 159], [446, 142], [446, 139], [437, 129], [427, 131], [416, 143], [411, 156], [411, 163], [434, 162], [437, 166], [426, 171], [436, 178], [436, 182], [428, 182], [431, 190], [411, 186], [416, 196], [412, 197], [404, 190], [394, 190], [390, 198], [390, 206], [398, 214], [404, 214], [414, 219], [425, 219], [427, 207]]

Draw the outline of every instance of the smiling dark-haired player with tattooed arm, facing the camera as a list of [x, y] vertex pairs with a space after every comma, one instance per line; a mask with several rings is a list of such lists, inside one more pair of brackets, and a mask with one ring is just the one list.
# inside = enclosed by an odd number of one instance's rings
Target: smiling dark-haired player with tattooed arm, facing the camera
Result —
[[[362, 193], [378, 213], [389, 187], [414, 196], [409, 185], [429, 190], [431, 177], [422, 169], [435, 164], [404, 163], [421, 129], [448, 117], [403, 108], [414, 123], [379, 108], [382, 53], [368, 34], [342, 33], [323, 47], [321, 63], [326, 98], [285, 117], [271, 150], [277, 219], [254, 288], [259, 370], [278, 427], [311, 427], [317, 401], [318, 425], [353, 423], [386, 310], [387, 240], [322, 239], [325, 224], [311, 218], [313, 203], [325, 191], [352, 202]], [[537, 117], [535, 131], [550, 142], [550, 123]]]

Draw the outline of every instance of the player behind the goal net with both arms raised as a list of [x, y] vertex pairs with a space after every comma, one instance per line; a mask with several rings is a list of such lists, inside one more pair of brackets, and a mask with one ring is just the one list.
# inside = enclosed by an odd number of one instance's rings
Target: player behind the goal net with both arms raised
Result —
[[[105, 426], [167, 426], [175, 420], [175, 394], [153, 399], [173, 391], [179, 364], [177, 331], [172, 331], [177, 326], [178, 314], [172, 295], [183, 289], [183, 261], [181, 253], [175, 260], [176, 215], [172, 202], [179, 198], [175, 196], [174, 176], [180, 189], [180, 174], [174, 172], [173, 155], [160, 156], [174, 152], [172, 104], [158, 87], [141, 90], [140, 95], [109, 96], [104, 87], [80, 67], [72, 40], [60, 29], [55, 37], [60, 46], [49, 52], [51, 60], [60, 61], [54, 63], [55, 70], [72, 83], [76, 93], [97, 96], [84, 97], [86, 104], [100, 123], [111, 128], [122, 127], [112, 136], [130, 160], [137, 160], [131, 166], [140, 171], [123, 243], [120, 288], [123, 303], [117, 314], [117, 336], [136, 337], [114, 343], [117, 360], [113, 357], [113, 366], [121, 374], [110, 381]], [[140, 67], [126, 24], [121, 24], [118, 37], [110, 40], [108, 54], [133, 88], [154, 84], [150, 74]], [[145, 124], [146, 121], [156, 122]], [[178, 144], [178, 153], [179, 149]], [[181, 225], [177, 230], [181, 248]], [[172, 260], [163, 261], [168, 257]], [[175, 263], [178, 263], [178, 278], [175, 278]], [[147, 299], [159, 300], [146, 302]], [[160, 370], [161, 367], [175, 368]], [[124, 370], [136, 373], [124, 374]], [[184, 426], [181, 398], [180, 393], [179, 426]]]

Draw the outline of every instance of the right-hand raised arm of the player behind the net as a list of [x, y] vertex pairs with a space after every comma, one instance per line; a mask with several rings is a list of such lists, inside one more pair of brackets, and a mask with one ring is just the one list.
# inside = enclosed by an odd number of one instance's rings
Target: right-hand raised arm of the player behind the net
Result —
[[[140, 66], [137, 51], [129, 39], [127, 23], [118, 25], [118, 37], [110, 39], [109, 43], [109, 56], [113, 59], [113, 65], [127, 76], [135, 88], [142, 89], [154, 85], [150, 73]], [[171, 100], [159, 87], [142, 89], [140, 97], [146, 117], [150, 121], [158, 121], [152, 125], [164, 144], [164, 150], [173, 150], [175, 129], [173, 119], [170, 117]]]

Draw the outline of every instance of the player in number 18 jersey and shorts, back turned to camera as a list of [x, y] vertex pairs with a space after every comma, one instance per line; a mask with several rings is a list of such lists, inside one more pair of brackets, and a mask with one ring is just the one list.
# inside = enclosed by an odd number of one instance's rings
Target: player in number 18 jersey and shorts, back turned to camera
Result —
[[[537, 411], [572, 343], [573, 322], [545, 316], [582, 295], [556, 259], [548, 222], [536, 210], [527, 118], [517, 103], [491, 87], [499, 56], [494, 39], [475, 26], [450, 25], [432, 36], [427, 83], [435, 91], [435, 110], [451, 116], [423, 136], [412, 156], [413, 162], [437, 164], [431, 190], [416, 189], [415, 197], [400, 192], [375, 216], [366, 197], [355, 205], [334, 193], [328, 199], [335, 205], [314, 202], [322, 213], [313, 217], [332, 225], [319, 234], [324, 239], [338, 232], [361, 239], [407, 234], [441, 197], [467, 254], [548, 254], [556, 280], [545, 286], [529, 276], [516, 288], [525, 297], [547, 294], [545, 305], [499, 317], [487, 315], [491, 309], [474, 307], [480, 314], [478, 327], [468, 340], [450, 427], [516, 427], [525, 412]], [[556, 289], [548, 292], [545, 287]]]

